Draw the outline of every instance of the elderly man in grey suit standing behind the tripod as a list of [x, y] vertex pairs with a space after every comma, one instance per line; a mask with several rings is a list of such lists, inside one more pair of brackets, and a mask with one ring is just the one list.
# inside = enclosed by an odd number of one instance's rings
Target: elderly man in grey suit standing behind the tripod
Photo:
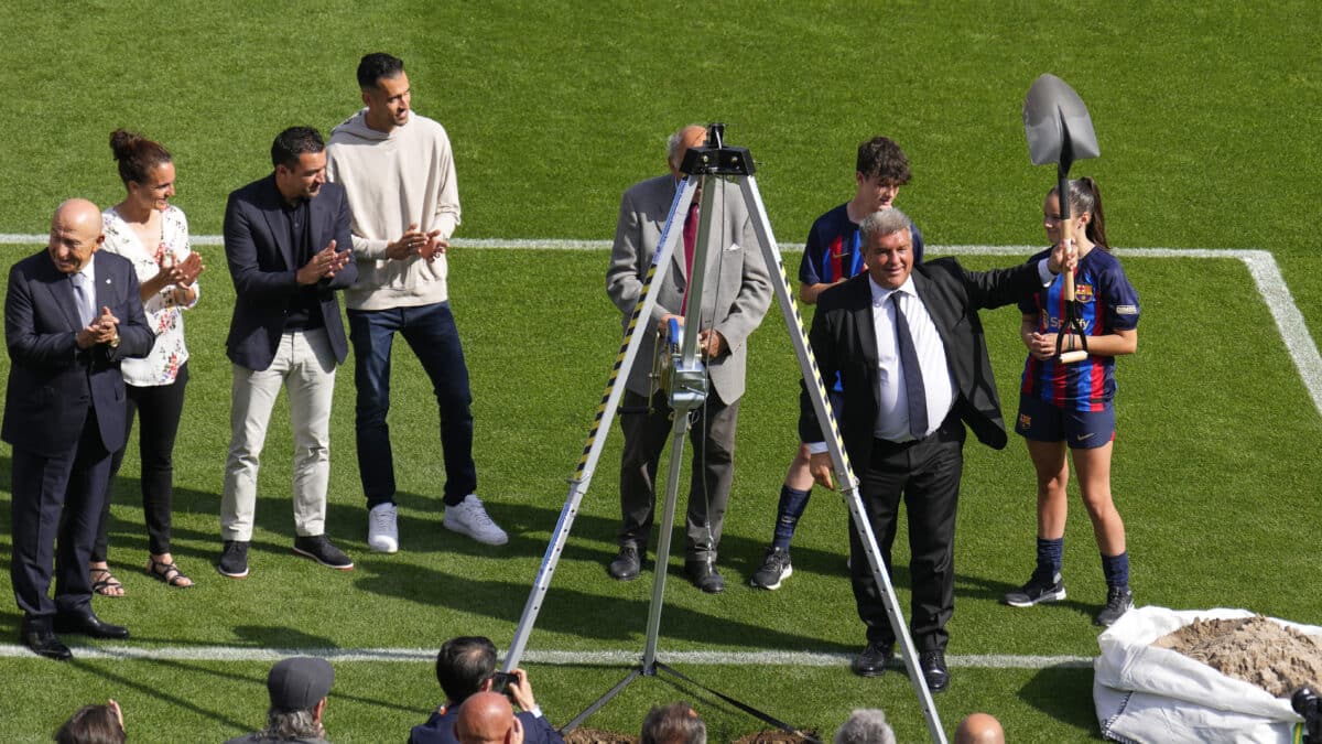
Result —
[[[661, 242], [661, 229], [674, 201], [682, 175], [680, 163], [690, 147], [706, 142], [706, 130], [690, 124], [668, 142], [670, 172], [637, 183], [624, 192], [620, 220], [615, 229], [611, 267], [605, 274], [605, 291], [624, 314], [624, 323], [637, 304], [652, 257]], [[771, 279], [752, 232], [752, 222], [739, 189], [727, 181], [711, 179], [709, 187], [723, 189], [714, 203], [719, 214], [711, 220], [711, 244], [707, 249], [702, 297], [701, 342], [711, 380], [706, 404], [698, 410], [701, 422], [690, 430], [693, 442], [693, 478], [689, 487], [686, 515], [685, 571], [695, 586], [719, 593], [724, 581], [715, 569], [720, 527], [730, 500], [734, 470], [735, 422], [739, 398], [744, 392], [744, 365], [748, 335], [761, 323], [771, 304]], [[620, 552], [611, 561], [612, 579], [637, 579], [641, 556], [646, 553], [652, 519], [656, 511], [656, 474], [670, 432], [670, 406], [666, 392], [658, 391], [648, 400], [648, 371], [654, 353], [653, 326], [670, 319], [683, 322], [689, 275], [693, 267], [698, 226], [698, 203], [683, 224], [682, 249], [677, 246], [673, 262], [658, 286], [653, 286], [657, 304], [650, 324], [640, 323], [644, 334], [637, 361], [629, 371], [620, 428], [624, 430], [624, 455], [620, 463]], [[670, 526], [662, 526], [669, 530]]]

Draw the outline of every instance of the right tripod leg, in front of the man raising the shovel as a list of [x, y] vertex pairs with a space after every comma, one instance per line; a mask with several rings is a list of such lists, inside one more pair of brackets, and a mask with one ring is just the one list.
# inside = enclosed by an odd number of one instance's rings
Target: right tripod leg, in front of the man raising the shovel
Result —
[[927, 688], [923, 670], [919, 667], [914, 639], [910, 637], [908, 625], [904, 622], [904, 613], [895, 598], [895, 586], [891, 584], [891, 577], [882, 563], [882, 551], [876, 545], [876, 536], [873, 534], [873, 526], [867, 520], [867, 512], [863, 508], [863, 500], [858, 491], [858, 481], [849, 463], [849, 455], [845, 453], [845, 445], [839, 437], [839, 429], [836, 424], [830, 401], [826, 397], [826, 385], [817, 369], [817, 360], [813, 356], [812, 346], [808, 343], [808, 332], [804, 330], [804, 320], [798, 315], [798, 306], [795, 302], [793, 291], [791, 291], [785, 262], [781, 259], [776, 238], [771, 234], [771, 221], [767, 218], [767, 209], [761, 203], [761, 195], [758, 193], [758, 183], [754, 180], [754, 176], [743, 176], [740, 177], [740, 187], [744, 204], [748, 207], [748, 214], [752, 217], [754, 232], [758, 233], [758, 242], [761, 244], [767, 267], [771, 269], [775, 266], [780, 270], [780, 281], [772, 279], [771, 285], [776, 291], [776, 299], [780, 302], [780, 310], [785, 316], [785, 328], [789, 330], [789, 340], [795, 347], [795, 355], [798, 357], [798, 368], [804, 375], [808, 397], [813, 402], [813, 410], [817, 412], [817, 420], [822, 422], [822, 434], [825, 434], [826, 447], [830, 450], [832, 466], [836, 469], [837, 478], [839, 479], [841, 495], [845, 498], [845, 504], [849, 507], [849, 514], [854, 518], [854, 526], [863, 541], [867, 564], [873, 569], [873, 577], [882, 593], [886, 616], [895, 630], [895, 639], [900, 645], [904, 667], [908, 670], [914, 692], [917, 695], [923, 716], [927, 719], [928, 733], [932, 736], [932, 741], [947, 744], [945, 732], [941, 729], [941, 719], [937, 716], [936, 704], [932, 702], [932, 692]]

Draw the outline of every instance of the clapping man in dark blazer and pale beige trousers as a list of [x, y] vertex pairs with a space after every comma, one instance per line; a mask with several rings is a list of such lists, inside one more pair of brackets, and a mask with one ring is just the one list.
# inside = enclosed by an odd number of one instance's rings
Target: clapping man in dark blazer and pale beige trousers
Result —
[[271, 146], [275, 172], [230, 195], [225, 257], [234, 279], [226, 349], [234, 363], [230, 453], [221, 498], [223, 576], [247, 576], [256, 475], [271, 408], [284, 387], [293, 429], [293, 552], [348, 571], [325, 536], [334, 369], [349, 355], [336, 290], [353, 285], [349, 203], [325, 181], [317, 130], [291, 127]]

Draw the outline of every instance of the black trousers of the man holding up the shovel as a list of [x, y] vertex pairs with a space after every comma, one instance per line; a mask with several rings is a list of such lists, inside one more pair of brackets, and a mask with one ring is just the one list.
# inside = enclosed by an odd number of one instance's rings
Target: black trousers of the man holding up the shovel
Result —
[[[944, 650], [949, 642], [945, 624], [954, 614], [954, 512], [964, 471], [964, 424], [953, 413], [924, 440], [895, 443], [873, 441], [873, 454], [859, 475], [859, 495], [873, 526], [886, 571], [891, 571], [891, 545], [904, 500], [910, 536], [912, 581], [910, 631], [917, 650]], [[850, 579], [858, 617], [867, 626], [869, 642], [895, 642], [895, 630], [863, 553], [863, 543], [849, 524]]]

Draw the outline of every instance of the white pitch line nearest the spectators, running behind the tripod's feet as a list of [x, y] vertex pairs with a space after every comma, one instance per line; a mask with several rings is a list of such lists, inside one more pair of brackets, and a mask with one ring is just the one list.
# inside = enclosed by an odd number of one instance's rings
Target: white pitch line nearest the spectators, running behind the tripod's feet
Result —
[[[436, 661], [435, 649], [254, 649], [250, 646], [74, 646], [79, 659], [182, 661], [182, 662], [274, 662], [287, 657], [320, 657], [332, 662], [426, 662]], [[670, 651], [657, 654], [666, 663], [717, 666], [849, 666], [854, 654], [812, 651]], [[641, 661], [636, 651], [527, 651], [522, 661], [547, 666], [631, 666]], [[25, 646], [0, 645], [0, 658], [36, 658]], [[1044, 657], [1013, 654], [951, 655], [947, 663], [965, 669], [1085, 669], [1092, 657]]]

